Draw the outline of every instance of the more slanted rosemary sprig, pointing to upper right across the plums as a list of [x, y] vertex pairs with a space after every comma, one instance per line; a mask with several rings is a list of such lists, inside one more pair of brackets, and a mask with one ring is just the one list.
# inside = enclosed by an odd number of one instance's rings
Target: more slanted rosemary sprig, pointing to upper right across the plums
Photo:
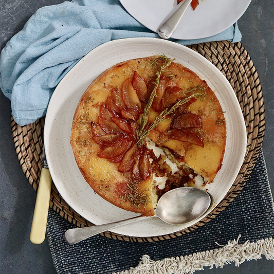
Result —
[[[195, 88], [193, 88], [192, 90], [195, 90]], [[193, 97], [200, 97], [200, 96], [203, 96], [203, 94], [201, 93], [193, 93], [192, 95], [190, 95], [189, 97], [185, 98], [185, 99], [182, 99], [178, 102], [176, 102], [171, 108], [166, 108], [164, 109], [157, 117], [156, 119], [154, 120], [154, 122], [152, 124], [150, 124], [150, 126], [148, 127], [147, 126], [147, 129], [145, 129], [141, 134], [140, 136], [138, 137], [138, 140], [137, 140], [137, 145], [138, 147], [141, 147], [141, 145], [143, 144], [143, 140], [145, 137], [147, 137], [150, 133], [150, 131], [152, 131], [153, 129], [155, 129], [155, 127], [162, 121], [165, 121], [167, 120], [167, 116], [169, 114], [172, 114], [174, 111], [176, 111], [176, 109], [187, 103], [191, 98]]]

